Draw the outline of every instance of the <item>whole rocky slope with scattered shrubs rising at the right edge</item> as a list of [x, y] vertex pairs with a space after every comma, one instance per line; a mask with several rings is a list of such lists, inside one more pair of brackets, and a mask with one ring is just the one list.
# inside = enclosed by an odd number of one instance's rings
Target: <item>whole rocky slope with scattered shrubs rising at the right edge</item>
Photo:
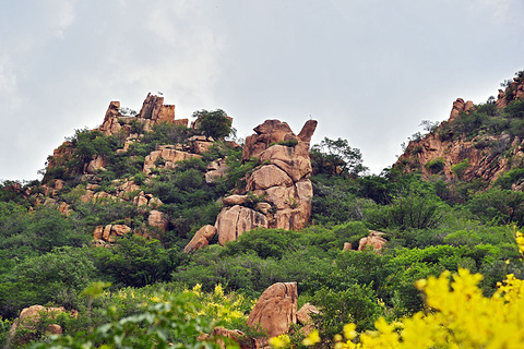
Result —
[[498, 99], [486, 105], [456, 99], [449, 120], [421, 140], [410, 141], [393, 167], [420, 171], [424, 178], [440, 174], [448, 181], [495, 181], [524, 164], [522, 100], [523, 76], [515, 77], [505, 91], [499, 89]]

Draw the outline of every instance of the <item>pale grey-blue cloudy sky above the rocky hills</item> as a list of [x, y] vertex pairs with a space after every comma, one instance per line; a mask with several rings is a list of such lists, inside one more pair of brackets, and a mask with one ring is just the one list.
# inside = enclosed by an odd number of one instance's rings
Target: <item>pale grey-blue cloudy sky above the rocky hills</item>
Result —
[[109, 101], [147, 93], [177, 119], [223, 109], [359, 148], [370, 173], [401, 144], [524, 70], [522, 0], [16, 0], [0, 11], [0, 180], [33, 180]]

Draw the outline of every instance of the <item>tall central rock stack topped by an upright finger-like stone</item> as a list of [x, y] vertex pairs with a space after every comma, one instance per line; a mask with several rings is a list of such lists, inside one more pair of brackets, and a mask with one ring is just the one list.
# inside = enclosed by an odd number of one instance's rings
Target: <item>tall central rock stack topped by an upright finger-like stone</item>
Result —
[[[255, 157], [262, 165], [247, 176], [243, 190], [224, 198], [226, 207], [215, 222], [219, 244], [258, 227], [299, 230], [308, 224], [313, 196], [309, 143], [315, 128], [315, 120], [307, 121], [298, 135], [279, 120], [254, 128], [255, 134], [246, 139], [242, 160]], [[205, 239], [195, 234], [186, 252], [202, 248], [213, 236], [209, 230]]]

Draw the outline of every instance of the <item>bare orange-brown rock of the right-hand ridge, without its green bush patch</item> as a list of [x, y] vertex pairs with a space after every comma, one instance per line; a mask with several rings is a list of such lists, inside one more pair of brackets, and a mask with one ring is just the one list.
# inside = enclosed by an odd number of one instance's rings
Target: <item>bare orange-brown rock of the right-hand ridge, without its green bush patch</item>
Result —
[[[524, 100], [524, 79], [515, 77], [505, 91], [499, 89], [497, 100], [489, 101], [501, 110], [512, 103]], [[458, 98], [453, 103], [450, 118], [419, 141], [410, 141], [404, 154], [393, 166], [403, 171], [421, 171], [424, 178], [443, 174], [446, 181], [481, 179], [493, 182], [500, 174], [524, 161], [524, 140], [508, 132], [487, 134], [480, 132], [473, 137], [453, 134], [460, 116], [476, 111], [473, 101]], [[510, 161], [510, 158], [512, 159]], [[457, 172], [453, 166], [464, 165]]]

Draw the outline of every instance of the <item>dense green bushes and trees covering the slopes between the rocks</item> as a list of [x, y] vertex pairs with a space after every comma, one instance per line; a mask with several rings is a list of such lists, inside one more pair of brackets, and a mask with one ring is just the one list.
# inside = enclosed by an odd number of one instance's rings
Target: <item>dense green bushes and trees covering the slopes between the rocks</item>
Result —
[[[503, 111], [490, 104], [478, 106], [457, 119], [453, 134], [472, 132], [472, 124], [486, 133], [517, 132], [522, 104], [513, 103], [511, 110]], [[206, 136], [227, 136], [213, 123], [213, 118], [225, 116], [222, 110], [195, 113], [211, 116], [202, 121]], [[451, 134], [445, 128], [439, 132]], [[396, 169], [369, 176], [360, 152], [341, 139], [324, 139], [311, 149], [314, 196], [309, 227], [258, 229], [226, 246], [213, 244], [188, 255], [183, 246], [196, 229], [214, 222], [222, 208], [218, 198], [241, 185], [243, 176], [258, 165], [254, 158], [242, 163], [241, 151], [218, 141], [202, 158], [182, 161], [175, 169], [159, 167], [153, 178], [142, 173], [145, 156], [157, 145], [184, 146], [191, 135], [189, 129], [158, 124], [126, 152], [116, 152], [123, 146], [118, 135], [78, 131], [69, 140], [74, 145], [70, 158], [55, 164], [45, 178], [47, 184], [64, 181], [58, 196], [70, 205], [69, 215], [24, 196], [28, 189], [38, 193], [39, 183], [13, 190], [16, 183], [3, 182], [0, 339], [8, 338], [23, 308], [45, 304], [79, 311], [78, 317], [64, 313], [45, 320], [58, 322], [71, 336], [60, 339], [66, 347], [80, 348], [82, 342], [198, 347], [195, 334], [216, 323], [255, 335], [246, 327], [253, 301], [274, 282], [297, 281], [299, 305], [311, 302], [321, 309], [314, 322], [320, 338], [329, 342], [343, 333], [344, 324], [354, 323], [357, 332], [364, 332], [376, 328], [380, 317], [394, 321], [422, 311], [425, 299], [415, 282], [444, 270], [480, 273], [479, 292], [488, 298], [507, 274], [524, 276], [515, 228], [510, 226], [524, 225], [524, 194], [511, 190], [524, 178], [522, 169], [507, 172], [489, 188], [460, 179], [446, 183], [438, 176], [422, 181], [419, 173]], [[115, 193], [119, 180], [133, 180], [140, 191], [162, 200], [157, 208], [169, 217], [167, 232], [147, 231], [156, 239], [123, 236], [111, 249], [91, 245], [98, 225], [147, 229], [151, 210], [126, 201], [80, 201], [86, 190], [81, 167], [96, 156], [109, 159], [106, 170], [96, 174], [97, 190]], [[206, 167], [217, 158], [225, 158], [228, 169], [224, 178], [209, 183]], [[438, 173], [438, 161], [430, 166]], [[386, 249], [355, 251], [370, 229], [386, 233]], [[353, 251], [343, 251], [346, 242]], [[179, 321], [182, 314], [188, 318], [186, 327]], [[110, 326], [100, 327], [105, 323]], [[11, 345], [26, 345], [43, 334], [43, 329], [20, 334]], [[133, 334], [141, 334], [144, 342], [133, 342], [138, 338]], [[300, 334], [296, 336], [291, 340], [300, 342]]]

